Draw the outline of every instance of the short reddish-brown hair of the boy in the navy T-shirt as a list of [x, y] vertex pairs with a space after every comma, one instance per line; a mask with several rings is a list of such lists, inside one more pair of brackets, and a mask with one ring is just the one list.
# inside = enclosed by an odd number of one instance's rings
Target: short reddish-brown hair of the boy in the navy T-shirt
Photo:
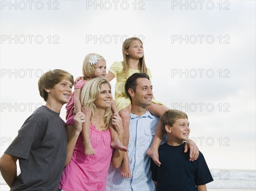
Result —
[[160, 121], [162, 123], [163, 131], [166, 133], [165, 125], [169, 125], [170, 127], [173, 126], [173, 124], [177, 121], [177, 119], [189, 119], [187, 114], [183, 111], [179, 111], [177, 109], [169, 109], [166, 112], [164, 112], [160, 116]]

